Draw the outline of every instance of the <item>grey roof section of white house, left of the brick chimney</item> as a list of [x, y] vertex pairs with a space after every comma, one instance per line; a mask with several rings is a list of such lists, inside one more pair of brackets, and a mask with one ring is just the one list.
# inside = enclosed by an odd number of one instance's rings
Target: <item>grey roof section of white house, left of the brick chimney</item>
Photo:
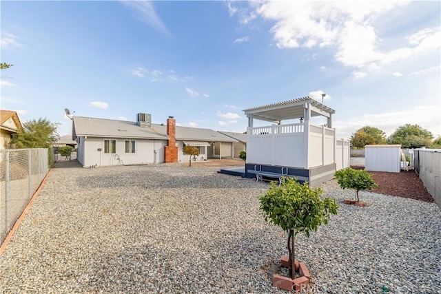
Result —
[[158, 132], [152, 127], [140, 127], [135, 122], [127, 120], [111, 120], [103, 118], [88, 118], [74, 116], [72, 138], [77, 136], [93, 136], [107, 138], [149, 138], [167, 140], [167, 134]]

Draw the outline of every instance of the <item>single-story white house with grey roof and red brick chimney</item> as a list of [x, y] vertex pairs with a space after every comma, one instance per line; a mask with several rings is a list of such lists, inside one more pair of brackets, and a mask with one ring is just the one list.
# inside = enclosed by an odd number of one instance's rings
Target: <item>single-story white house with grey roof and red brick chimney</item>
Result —
[[[212, 129], [176, 126], [172, 116], [166, 124], [154, 124], [150, 114], [137, 114], [136, 122], [73, 116], [72, 139], [83, 167], [189, 161], [185, 145], [199, 147], [194, 160], [232, 158], [238, 142]], [[216, 143], [222, 148], [219, 155]]]

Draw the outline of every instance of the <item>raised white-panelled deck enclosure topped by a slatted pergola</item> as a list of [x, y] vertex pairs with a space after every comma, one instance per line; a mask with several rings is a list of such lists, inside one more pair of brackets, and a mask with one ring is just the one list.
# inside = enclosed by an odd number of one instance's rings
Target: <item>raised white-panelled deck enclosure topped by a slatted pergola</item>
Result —
[[[349, 142], [337, 143], [332, 127], [335, 110], [313, 98], [297, 98], [243, 112], [248, 118], [246, 177], [256, 177], [256, 169], [277, 173], [286, 167], [287, 176], [314, 186], [333, 178], [336, 169], [349, 166]], [[327, 123], [312, 124], [314, 116], [325, 117]], [[296, 119], [299, 123], [283, 124]], [[272, 124], [254, 127], [254, 120]]]

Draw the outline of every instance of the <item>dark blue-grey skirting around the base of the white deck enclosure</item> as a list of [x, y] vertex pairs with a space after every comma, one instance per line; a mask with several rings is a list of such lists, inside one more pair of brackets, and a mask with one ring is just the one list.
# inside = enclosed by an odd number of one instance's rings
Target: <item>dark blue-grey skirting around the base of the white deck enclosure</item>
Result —
[[[280, 173], [282, 167], [276, 165], [259, 165], [257, 163], [247, 163], [245, 165], [245, 177], [256, 178], [254, 166], [261, 171], [268, 171], [271, 173]], [[313, 167], [311, 169], [299, 169], [296, 167], [287, 167], [288, 176], [297, 178], [299, 182], [308, 181], [311, 187], [317, 186], [334, 178], [336, 172], [336, 163], [324, 165], [322, 167]]]

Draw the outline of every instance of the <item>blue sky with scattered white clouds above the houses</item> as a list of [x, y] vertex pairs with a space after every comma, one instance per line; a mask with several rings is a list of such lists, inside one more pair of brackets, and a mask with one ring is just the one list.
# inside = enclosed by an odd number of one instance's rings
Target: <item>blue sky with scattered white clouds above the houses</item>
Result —
[[[243, 109], [311, 96], [338, 138], [441, 134], [440, 1], [1, 1], [1, 109], [245, 132]], [[320, 122], [318, 122], [320, 123]], [[266, 125], [267, 123], [263, 123]]]

